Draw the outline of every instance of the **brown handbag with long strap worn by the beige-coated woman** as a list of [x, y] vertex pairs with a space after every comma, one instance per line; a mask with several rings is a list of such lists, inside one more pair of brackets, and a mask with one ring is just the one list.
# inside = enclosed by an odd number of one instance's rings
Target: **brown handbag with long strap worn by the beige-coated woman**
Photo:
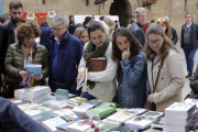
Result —
[[[153, 86], [154, 86], [153, 92], [151, 92], [151, 88], [150, 88], [150, 91], [148, 91], [147, 96], [155, 92], [156, 85], [157, 85], [157, 82], [158, 82], [158, 77], [160, 77], [160, 74], [161, 74], [161, 69], [162, 69], [162, 66], [163, 66], [163, 62], [164, 62], [164, 61], [161, 62], [161, 66], [160, 66], [160, 68], [158, 68], [158, 73], [157, 73], [157, 78], [156, 78], [156, 80], [155, 80], [155, 85], [154, 85], [154, 82], [153, 82]], [[147, 80], [147, 81], [148, 81], [148, 80]], [[153, 81], [153, 61], [152, 61], [152, 81]], [[150, 84], [150, 81], [148, 81], [148, 84]], [[145, 102], [145, 105], [144, 105], [144, 108], [146, 108], [146, 109], [148, 109], [148, 110], [152, 110], [152, 111], [156, 111], [156, 105], [155, 105], [154, 102], [150, 103], [150, 102], [147, 102], [147, 100], [146, 100], [146, 102]]]

